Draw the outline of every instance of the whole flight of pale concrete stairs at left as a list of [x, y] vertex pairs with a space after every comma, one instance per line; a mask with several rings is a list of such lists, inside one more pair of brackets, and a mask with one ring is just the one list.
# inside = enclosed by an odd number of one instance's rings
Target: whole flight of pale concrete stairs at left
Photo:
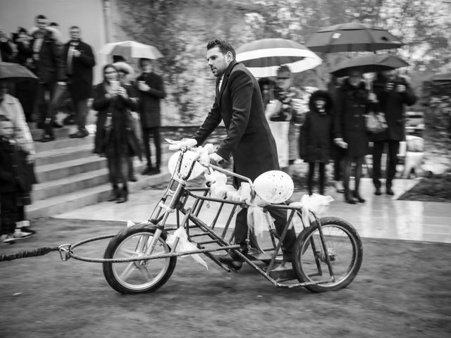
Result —
[[[27, 219], [49, 217], [105, 201], [111, 191], [106, 158], [92, 154], [94, 135], [70, 139], [69, 127], [55, 129], [56, 140], [35, 142], [35, 173], [38, 184], [33, 186], [32, 204], [26, 208]], [[42, 130], [32, 128], [33, 139]], [[163, 149], [163, 163], [171, 154]], [[170, 177], [163, 165], [159, 175], [140, 175], [145, 163], [135, 159], [137, 182], [129, 182], [130, 194], [149, 185], [165, 182]]]

